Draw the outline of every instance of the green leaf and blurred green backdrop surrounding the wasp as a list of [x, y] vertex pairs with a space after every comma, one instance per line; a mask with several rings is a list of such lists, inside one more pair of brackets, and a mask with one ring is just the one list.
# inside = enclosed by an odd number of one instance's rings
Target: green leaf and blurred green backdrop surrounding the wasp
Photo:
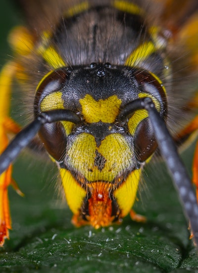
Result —
[[[21, 21], [11, 2], [1, 0], [0, 67], [11, 58], [7, 34]], [[18, 113], [20, 108], [14, 105]], [[183, 154], [189, 172], [194, 145]], [[99, 230], [72, 226], [72, 214], [57, 195], [56, 168], [45, 158], [24, 151], [14, 164], [13, 177], [25, 197], [9, 189], [13, 229], [0, 249], [1, 273], [198, 272], [187, 222], [162, 163], [147, 167], [135, 205], [148, 222], [136, 223], [126, 217], [122, 225]]]

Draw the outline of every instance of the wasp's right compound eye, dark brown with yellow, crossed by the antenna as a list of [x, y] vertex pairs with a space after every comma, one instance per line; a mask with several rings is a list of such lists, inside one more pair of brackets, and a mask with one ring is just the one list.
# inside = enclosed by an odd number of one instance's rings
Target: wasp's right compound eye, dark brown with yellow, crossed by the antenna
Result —
[[[151, 98], [159, 115], [165, 119], [167, 114], [166, 91], [160, 79], [148, 71], [139, 71], [135, 73], [135, 81], [139, 89], [138, 97]], [[148, 112], [145, 109], [135, 111], [128, 121], [128, 128], [130, 134], [134, 137], [137, 160], [140, 162], [146, 161], [157, 148]]]

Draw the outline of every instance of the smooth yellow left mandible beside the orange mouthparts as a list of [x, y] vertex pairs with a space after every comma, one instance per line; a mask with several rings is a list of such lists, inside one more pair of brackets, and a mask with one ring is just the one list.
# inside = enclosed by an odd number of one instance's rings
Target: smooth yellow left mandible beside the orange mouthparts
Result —
[[86, 191], [76, 182], [68, 170], [60, 169], [62, 185], [65, 191], [67, 204], [74, 214], [79, 212], [84, 198], [87, 196]]

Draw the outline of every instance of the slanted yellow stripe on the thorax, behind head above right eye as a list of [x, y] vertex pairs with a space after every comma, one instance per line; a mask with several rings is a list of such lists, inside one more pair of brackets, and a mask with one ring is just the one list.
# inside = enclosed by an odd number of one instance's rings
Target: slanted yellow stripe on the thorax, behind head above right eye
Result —
[[125, 66], [135, 67], [139, 66], [140, 62], [147, 59], [152, 53], [156, 51], [155, 45], [151, 41], [146, 41], [144, 44], [137, 47], [127, 58]]

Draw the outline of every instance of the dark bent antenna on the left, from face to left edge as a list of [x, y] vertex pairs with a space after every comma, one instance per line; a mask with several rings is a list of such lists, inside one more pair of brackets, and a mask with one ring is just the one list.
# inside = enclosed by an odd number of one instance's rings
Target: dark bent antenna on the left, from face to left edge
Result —
[[14, 137], [0, 155], [0, 174], [8, 168], [20, 151], [30, 143], [44, 124], [57, 121], [70, 121], [79, 124], [80, 118], [70, 110], [51, 110], [39, 114], [33, 122]]

